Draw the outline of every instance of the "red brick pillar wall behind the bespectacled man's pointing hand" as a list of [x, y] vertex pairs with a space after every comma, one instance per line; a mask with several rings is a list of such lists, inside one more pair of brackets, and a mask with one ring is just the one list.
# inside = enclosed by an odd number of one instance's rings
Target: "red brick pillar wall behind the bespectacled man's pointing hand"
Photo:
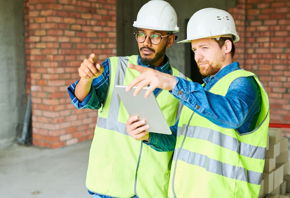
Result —
[[57, 148], [93, 137], [97, 110], [76, 109], [67, 87], [90, 53], [116, 55], [116, 0], [25, 0], [33, 144]]

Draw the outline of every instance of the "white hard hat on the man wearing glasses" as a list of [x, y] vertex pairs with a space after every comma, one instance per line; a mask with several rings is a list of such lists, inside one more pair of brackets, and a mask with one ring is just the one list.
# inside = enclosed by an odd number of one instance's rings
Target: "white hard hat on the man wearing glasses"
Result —
[[134, 27], [167, 32], [179, 32], [177, 15], [173, 7], [162, 0], [152, 0], [145, 3], [139, 10]]

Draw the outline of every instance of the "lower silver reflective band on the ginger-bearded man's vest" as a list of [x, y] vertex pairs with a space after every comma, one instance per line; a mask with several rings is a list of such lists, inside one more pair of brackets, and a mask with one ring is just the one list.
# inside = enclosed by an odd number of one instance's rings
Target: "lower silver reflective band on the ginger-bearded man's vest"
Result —
[[[174, 152], [177, 152], [177, 150], [175, 150]], [[176, 161], [176, 157], [173, 156], [173, 160]], [[224, 177], [261, 185], [263, 173], [250, 171], [242, 167], [226, 164], [221, 161], [211, 159], [208, 156], [202, 155], [200, 153], [190, 152], [189, 150], [181, 149], [178, 160], [205, 168], [205, 170], [208, 172], [219, 174]]]

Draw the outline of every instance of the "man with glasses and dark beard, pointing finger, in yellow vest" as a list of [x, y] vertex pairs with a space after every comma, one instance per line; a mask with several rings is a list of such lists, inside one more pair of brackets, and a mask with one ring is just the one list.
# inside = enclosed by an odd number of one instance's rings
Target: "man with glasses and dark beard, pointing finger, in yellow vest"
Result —
[[[128, 136], [129, 115], [114, 85], [128, 85], [140, 75], [128, 64], [186, 78], [165, 55], [166, 48], [174, 43], [174, 33], [179, 31], [177, 15], [166, 1], [153, 0], [139, 10], [133, 26], [138, 28], [134, 33], [138, 55], [110, 57], [99, 64], [91, 54], [79, 67], [81, 79], [68, 87], [75, 107], [99, 109], [86, 177], [86, 187], [93, 197], [167, 198], [173, 152], [157, 152]], [[153, 92], [168, 125], [174, 125], [182, 103], [168, 91], [156, 88]]]

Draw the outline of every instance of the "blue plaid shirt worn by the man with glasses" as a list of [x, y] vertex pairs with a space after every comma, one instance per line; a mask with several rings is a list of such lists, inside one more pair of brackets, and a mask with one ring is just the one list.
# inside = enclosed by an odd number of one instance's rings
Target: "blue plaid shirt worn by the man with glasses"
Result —
[[[159, 66], [159, 67], [155, 67], [154, 65], [141, 64], [139, 55], [137, 57], [137, 62], [139, 65], [142, 65], [144, 67], [149, 67], [149, 68], [155, 69], [157, 71], [161, 71], [163, 73], [168, 73], [168, 74], [172, 75], [172, 69], [171, 69], [171, 67], [169, 67], [169, 59], [166, 55], [164, 56], [164, 61], [163, 61], [164, 64], [162, 66]], [[105, 97], [107, 94], [107, 90], [108, 90], [108, 86], [109, 86], [109, 75], [110, 75], [109, 59], [107, 58], [102, 63], [102, 65], [104, 67], [104, 72], [98, 78], [93, 79], [90, 93], [82, 102], [80, 102], [77, 99], [77, 97], [75, 96], [75, 87], [77, 86], [77, 83], [79, 82], [79, 80], [77, 80], [75, 83], [71, 84], [68, 87], [70, 101], [73, 103], [73, 105], [75, 105], [75, 107], [77, 109], [99, 109], [102, 107], [102, 104], [104, 103], [104, 100], [105, 100]], [[156, 96], [160, 91], [161, 91], [160, 88], [156, 88], [153, 91], [153, 93]], [[91, 195], [95, 194], [93, 192], [90, 192], [89, 190], [88, 190], [88, 192]], [[111, 197], [108, 197], [105, 195], [99, 195], [99, 197], [111, 198]], [[135, 196], [133, 196], [132, 198], [134, 198], [134, 197]]]

